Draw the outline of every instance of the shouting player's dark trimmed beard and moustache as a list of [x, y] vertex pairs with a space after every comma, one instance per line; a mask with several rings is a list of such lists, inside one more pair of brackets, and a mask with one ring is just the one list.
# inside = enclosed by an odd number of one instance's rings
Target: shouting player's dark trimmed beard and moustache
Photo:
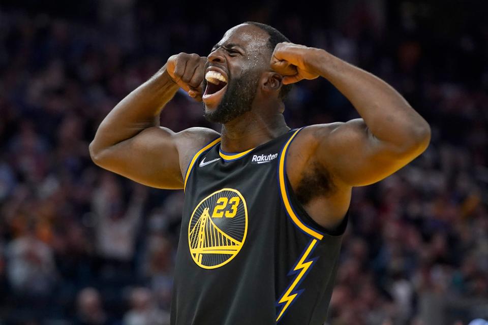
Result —
[[[203, 105], [203, 116], [209, 122], [225, 124], [251, 110], [258, 88], [259, 72], [248, 70], [239, 78], [231, 79], [222, 100], [214, 111]], [[203, 80], [203, 89], [207, 81]]]

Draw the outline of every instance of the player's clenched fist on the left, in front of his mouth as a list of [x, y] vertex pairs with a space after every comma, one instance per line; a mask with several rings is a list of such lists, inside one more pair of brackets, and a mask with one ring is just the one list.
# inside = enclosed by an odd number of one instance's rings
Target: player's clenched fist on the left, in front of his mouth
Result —
[[195, 100], [201, 101], [207, 58], [198, 54], [179, 53], [169, 57], [166, 71], [175, 83]]

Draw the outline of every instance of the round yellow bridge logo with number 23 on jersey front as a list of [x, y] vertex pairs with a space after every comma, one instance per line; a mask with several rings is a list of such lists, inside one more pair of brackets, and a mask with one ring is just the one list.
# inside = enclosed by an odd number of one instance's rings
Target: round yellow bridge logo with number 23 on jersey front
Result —
[[248, 208], [242, 194], [223, 188], [203, 199], [188, 226], [193, 261], [204, 269], [216, 269], [234, 258], [248, 232]]

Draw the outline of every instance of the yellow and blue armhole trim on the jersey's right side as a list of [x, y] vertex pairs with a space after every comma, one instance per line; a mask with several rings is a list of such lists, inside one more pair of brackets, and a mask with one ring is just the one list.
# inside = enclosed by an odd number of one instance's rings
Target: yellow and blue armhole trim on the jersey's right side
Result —
[[285, 182], [286, 156], [288, 153], [288, 147], [289, 147], [291, 141], [293, 140], [293, 138], [295, 138], [295, 136], [298, 134], [298, 132], [300, 132], [300, 130], [302, 128], [297, 129], [293, 133], [293, 135], [290, 137], [290, 139], [288, 139], [288, 141], [285, 143], [285, 145], [283, 146], [283, 149], [280, 152], [280, 160], [279, 160], [279, 165], [278, 165], [278, 183], [279, 183], [279, 187], [280, 187], [280, 193], [281, 193], [283, 205], [285, 206], [286, 213], [290, 217], [290, 220], [293, 222], [293, 224], [295, 224], [300, 231], [307, 234], [308, 236], [315, 238], [315, 239], [318, 239], [318, 240], [322, 240], [322, 238], [324, 237], [324, 235], [322, 233], [320, 233], [319, 231], [317, 231], [317, 230], [311, 228], [310, 226], [304, 224], [303, 221], [301, 221], [300, 218], [298, 217], [297, 213], [295, 212], [295, 209], [293, 208], [293, 206], [290, 203], [290, 199], [289, 199], [290, 196], [288, 194], [288, 187], [287, 187], [287, 184]]

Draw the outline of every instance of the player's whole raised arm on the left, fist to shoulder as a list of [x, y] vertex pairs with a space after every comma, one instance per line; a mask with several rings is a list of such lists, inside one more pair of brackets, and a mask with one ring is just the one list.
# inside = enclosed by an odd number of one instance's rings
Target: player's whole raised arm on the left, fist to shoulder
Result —
[[148, 186], [183, 188], [189, 160], [219, 134], [201, 127], [174, 133], [160, 126], [159, 115], [180, 87], [201, 100], [205, 63], [196, 54], [173, 55], [120, 101], [90, 143], [95, 164]]

